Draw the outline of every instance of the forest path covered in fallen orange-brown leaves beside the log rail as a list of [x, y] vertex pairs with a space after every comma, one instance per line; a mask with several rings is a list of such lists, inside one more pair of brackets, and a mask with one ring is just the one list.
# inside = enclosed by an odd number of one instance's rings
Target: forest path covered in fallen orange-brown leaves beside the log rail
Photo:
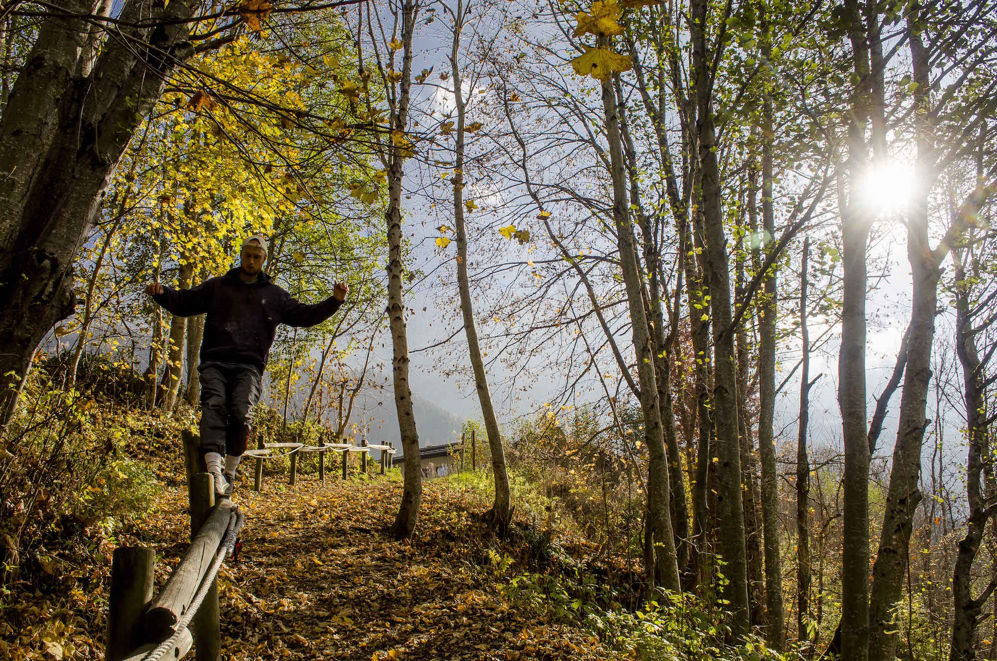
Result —
[[[234, 496], [247, 517], [241, 554], [220, 573], [224, 659], [616, 658], [587, 631], [535, 621], [502, 598], [507, 578], [489, 559], [501, 549], [477, 520], [487, 503], [476, 492], [425, 482], [416, 538], [398, 542], [385, 530], [400, 482], [267, 476], [256, 493], [251, 470]], [[160, 585], [186, 543], [186, 492], [167, 481], [160, 502], [173, 514], [147, 533], [166, 560]]]

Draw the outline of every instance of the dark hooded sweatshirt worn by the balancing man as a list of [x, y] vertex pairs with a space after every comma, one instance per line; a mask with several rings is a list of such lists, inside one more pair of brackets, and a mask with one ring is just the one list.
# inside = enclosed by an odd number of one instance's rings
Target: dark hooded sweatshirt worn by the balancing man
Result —
[[342, 305], [329, 297], [313, 306], [300, 303], [264, 273], [255, 283], [243, 283], [239, 269], [212, 278], [189, 290], [164, 287], [153, 300], [177, 317], [207, 313], [200, 361], [237, 362], [266, 366], [278, 324], [307, 328], [321, 324]]

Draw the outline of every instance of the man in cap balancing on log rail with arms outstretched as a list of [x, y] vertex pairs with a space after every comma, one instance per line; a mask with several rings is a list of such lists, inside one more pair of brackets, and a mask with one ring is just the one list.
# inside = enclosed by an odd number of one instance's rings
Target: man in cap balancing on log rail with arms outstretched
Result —
[[[315, 305], [296, 301], [263, 273], [266, 239], [242, 242], [239, 267], [189, 290], [159, 283], [146, 287], [172, 315], [206, 313], [200, 343], [200, 450], [218, 495], [232, 493], [239, 459], [249, 439], [252, 407], [259, 400], [263, 369], [278, 324], [307, 328], [339, 310], [349, 288], [336, 283], [331, 297]], [[224, 467], [222, 467], [224, 455]]]

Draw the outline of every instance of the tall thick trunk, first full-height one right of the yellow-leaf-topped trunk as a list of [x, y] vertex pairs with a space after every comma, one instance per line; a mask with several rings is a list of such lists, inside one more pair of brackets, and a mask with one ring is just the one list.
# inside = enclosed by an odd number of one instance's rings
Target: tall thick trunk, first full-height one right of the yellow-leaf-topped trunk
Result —
[[[727, 261], [727, 236], [721, 206], [720, 168], [717, 163], [717, 136], [713, 123], [711, 65], [707, 52], [706, 0], [690, 4], [692, 20], [693, 69], [699, 105], [699, 163], [702, 172], [703, 222], [706, 238], [706, 272], [713, 311], [714, 362], [713, 401], [716, 411], [717, 455], [719, 457], [718, 493], [720, 542], [724, 574], [728, 583], [724, 597], [729, 602], [732, 639], [740, 639], [750, 629], [748, 603], [748, 561], [745, 544], [745, 519], [741, 503], [741, 447], [738, 440], [737, 373], [732, 328], [730, 272]], [[636, 322], [636, 321], [635, 321]]]

